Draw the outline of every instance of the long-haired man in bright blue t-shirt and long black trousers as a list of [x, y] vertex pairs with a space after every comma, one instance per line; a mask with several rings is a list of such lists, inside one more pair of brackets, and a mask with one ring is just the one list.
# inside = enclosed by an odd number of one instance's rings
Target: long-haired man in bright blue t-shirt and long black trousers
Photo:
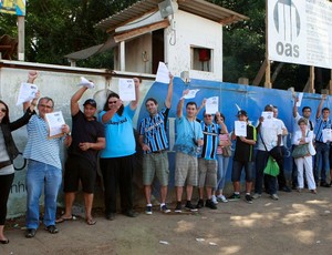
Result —
[[126, 106], [118, 94], [112, 92], [100, 113], [104, 124], [106, 146], [101, 152], [101, 169], [105, 186], [105, 217], [113, 221], [116, 213], [116, 190], [120, 187], [121, 211], [128, 217], [136, 217], [133, 211], [133, 169], [135, 136], [133, 116], [139, 100], [139, 80], [134, 78], [135, 100]]

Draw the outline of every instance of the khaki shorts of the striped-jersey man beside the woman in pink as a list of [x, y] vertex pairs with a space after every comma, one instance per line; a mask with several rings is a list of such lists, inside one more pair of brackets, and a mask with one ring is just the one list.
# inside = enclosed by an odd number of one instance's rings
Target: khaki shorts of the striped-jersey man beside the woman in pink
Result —
[[217, 161], [198, 159], [198, 187], [217, 186]]

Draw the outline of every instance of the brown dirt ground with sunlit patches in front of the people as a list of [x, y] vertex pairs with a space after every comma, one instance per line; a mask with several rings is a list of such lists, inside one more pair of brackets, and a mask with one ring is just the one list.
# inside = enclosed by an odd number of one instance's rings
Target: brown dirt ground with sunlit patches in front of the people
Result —
[[116, 215], [112, 222], [95, 211], [96, 225], [79, 217], [58, 224], [56, 235], [40, 227], [30, 239], [20, 218], [9, 222], [10, 244], [0, 244], [0, 254], [331, 254], [331, 194], [324, 187], [318, 195], [280, 192], [279, 201], [263, 194], [251, 205], [219, 203], [195, 214], [163, 215], [155, 206], [145, 215], [137, 208], [137, 218]]

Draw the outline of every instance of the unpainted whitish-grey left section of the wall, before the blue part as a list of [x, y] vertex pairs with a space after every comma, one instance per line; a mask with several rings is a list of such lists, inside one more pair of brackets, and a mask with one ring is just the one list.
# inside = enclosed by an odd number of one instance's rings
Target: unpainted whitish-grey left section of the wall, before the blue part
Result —
[[[101, 110], [105, 103], [107, 91], [117, 91], [118, 76], [111, 78], [111, 73], [107, 70], [91, 70], [38, 63], [22, 63], [17, 61], [0, 61], [0, 99], [9, 105], [11, 121], [20, 118], [23, 114], [22, 105], [17, 106], [15, 102], [21, 82], [27, 81], [28, 72], [30, 70], [38, 70], [39, 76], [34, 83], [39, 86], [41, 96], [50, 96], [54, 100], [54, 111], [62, 111], [65, 122], [69, 125], [72, 124], [70, 115], [70, 99], [77, 90], [80, 76], [83, 75], [95, 83], [95, 88], [86, 91], [81, 99], [81, 105], [86, 99], [94, 98], [97, 101], [98, 110]], [[131, 73], [122, 75], [132, 76]], [[143, 76], [143, 79], [151, 78]], [[152, 82], [145, 81], [144, 84], [144, 88], [142, 88], [143, 94], [148, 91]], [[23, 152], [27, 143], [27, 129], [23, 126], [20, 130], [14, 131], [12, 134], [19, 151]], [[63, 147], [61, 151], [63, 163], [65, 156], [65, 149]], [[23, 165], [24, 160], [21, 155], [19, 155], [14, 161], [14, 166], [17, 169], [21, 169]], [[25, 212], [25, 167], [21, 171], [15, 171], [15, 177], [8, 202], [9, 217], [22, 215]], [[60, 203], [62, 203], [61, 195]], [[43, 204], [42, 200], [41, 204]]]

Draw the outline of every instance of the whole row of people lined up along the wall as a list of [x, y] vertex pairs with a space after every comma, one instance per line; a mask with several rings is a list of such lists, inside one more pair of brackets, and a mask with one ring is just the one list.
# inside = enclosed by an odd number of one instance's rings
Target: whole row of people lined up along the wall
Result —
[[[33, 83], [38, 73], [29, 72], [28, 82]], [[173, 75], [164, 108], [158, 110], [158, 102], [154, 98], [145, 100], [146, 118], [138, 120], [138, 145], [143, 156], [143, 185], [146, 198], [145, 213], [153, 214], [152, 186], [157, 177], [160, 186], [160, 212], [167, 214], [167, 190], [169, 183], [169, 149], [167, 137], [168, 113], [173, 101]], [[45, 114], [54, 110], [51, 98], [40, 98], [40, 92], [31, 102], [23, 103], [24, 115], [14, 122], [9, 120], [8, 105], [0, 101], [0, 243], [9, 239], [3, 234], [7, 215], [7, 202], [14, 177], [13, 160], [18, 154], [11, 132], [25, 125], [28, 142], [23, 157], [28, 160], [27, 171], [27, 232], [25, 237], [35, 236], [40, 222], [39, 200], [44, 191], [45, 231], [56, 234], [56, 223], [73, 220], [72, 206], [80, 183], [84, 194], [85, 221], [87, 225], [96, 222], [92, 216], [93, 195], [96, 180], [97, 163], [103, 175], [105, 218], [116, 217], [117, 188], [120, 190], [121, 213], [128, 217], [136, 217], [133, 210], [133, 171], [136, 141], [133, 132], [133, 116], [139, 101], [141, 81], [134, 78], [136, 99], [126, 106], [117, 93], [110, 93], [103, 111], [95, 116], [96, 102], [89, 99], [80, 110], [79, 101], [87, 86], [81, 86], [71, 98], [72, 131], [68, 124], [62, 126], [63, 135], [49, 139]], [[278, 108], [266, 105], [264, 112], [273, 112], [270, 120], [259, 118], [255, 126], [249, 122], [246, 110], [239, 110], [237, 118], [245, 123], [246, 136], [229, 132], [222, 113], [208, 113], [204, 110], [204, 119], [197, 115], [206, 101], [198, 108], [195, 101], [185, 104], [188, 90], [176, 106], [175, 155], [175, 213], [183, 210], [196, 212], [201, 207], [217, 208], [218, 203], [239, 201], [241, 198], [241, 172], [246, 175], [243, 200], [251, 204], [262, 192], [270, 194], [272, 200], [279, 200], [278, 191], [302, 192], [305, 185], [311, 193], [317, 194], [317, 186], [330, 187], [326, 173], [329, 172], [330, 141], [324, 137], [324, 130], [331, 129], [330, 110], [322, 109], [325, 95], [318, 106], [315, 122], [310, 120], [311, 109], [302, 108], [301, 116], [298, 112], [297, 99], [293, 106], [294, 130], [292, 135], [294, 164], [291, 187], [283, 171], [283, 135], [288, 134], [284, 123], [278, 119]], [[38, 109], [38, 114], [34, 111]], [[185, 108], [185, 111], [184, 111]], [[235, 146], [231, 149], [232, 141]], [[60, 146], [68, 147], [68, 159], [62, 174]], [[255, 146], [257, 152], [255, 153]], [[302, 153], [304, 150], [304, 154]], [[307, 151], [305, 151], [307, 150]], [[332, 150], [331, 150], [332, 152]], [[299, 154], [300, 153], [300, 154]], [[302, 154], [301, 154], [302, 153]], [[234, 193], [226, 197], [222, 193], [229, 161], [232, 160], [231, 182]], [[270, 164], [278, 165], [279, 174], [266, 172]], [[56, 218], [56, 198], [63, 180], [65, 211]], [[252, 184], [255, 183], [255, 187]], [[198, 187], [198, 203], [194, 204], [193, 193]], [[251, 193], [253, 187], [253, 193]], [[185, 205], [183, 194], [185, 188]]]

